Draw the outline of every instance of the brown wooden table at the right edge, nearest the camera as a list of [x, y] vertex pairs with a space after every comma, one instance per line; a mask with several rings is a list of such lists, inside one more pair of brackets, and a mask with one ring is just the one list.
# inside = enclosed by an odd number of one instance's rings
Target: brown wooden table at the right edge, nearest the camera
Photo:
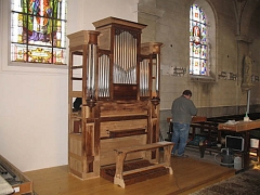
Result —
[[245, 148], [244, 148], [244, 168], [249, 168], [249, 147], [250, 147], [250, 130], [259, 129], [260, 128], [260, 119], [258, 120], [250, 120], [250, 121], [235, 121], [234, 123], [225, 122], [219, 123], [218, 130], [220, 131], [233, 131], [239, 132], [245, 134]]

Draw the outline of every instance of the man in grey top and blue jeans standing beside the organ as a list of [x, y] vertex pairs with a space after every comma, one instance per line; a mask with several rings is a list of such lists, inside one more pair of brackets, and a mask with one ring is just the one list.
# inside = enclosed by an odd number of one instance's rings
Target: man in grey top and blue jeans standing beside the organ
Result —
[[171, 106], [173, 122], [173, 135], [171, 141], [174, 143], [171, 154], [174, 155], [178, 150], [178, 157], [187, 157], [187, 155], [184, 155], [184, 150], [188, 138], [190, 125], [192, 117], [197, 114], [197, 108], [193, 101], [190, 100], [191, 98], [192, 91], [185, 90], [181, 96], [172, 102]]

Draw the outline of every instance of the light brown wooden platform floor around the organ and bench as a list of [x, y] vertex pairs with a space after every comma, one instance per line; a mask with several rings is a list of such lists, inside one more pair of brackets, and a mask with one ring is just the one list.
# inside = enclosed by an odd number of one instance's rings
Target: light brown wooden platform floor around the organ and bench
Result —
[[67, 166], [25, 172], [37, 195], [166, 195], [190, 194], [225, 180], [235, 170], [194, 158], [171, 158], [173, 174], [135, 183], [126, 188], [103, 178], [80, 180], [67, 172]]

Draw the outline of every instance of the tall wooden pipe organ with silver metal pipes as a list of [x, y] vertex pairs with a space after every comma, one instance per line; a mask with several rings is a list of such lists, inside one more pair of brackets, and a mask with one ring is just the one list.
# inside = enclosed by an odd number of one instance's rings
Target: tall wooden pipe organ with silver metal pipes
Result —
[[[68, 35], [68, 167], [80, 179], [115, 164], [115, 148], [159, 141], [161, 43], [141, 43], [143, 24], [107, 17], [93, 25]], [[76, 98], [82, 99], [77, 112]], [[126, 160], [143, 156], [131, 153]]]

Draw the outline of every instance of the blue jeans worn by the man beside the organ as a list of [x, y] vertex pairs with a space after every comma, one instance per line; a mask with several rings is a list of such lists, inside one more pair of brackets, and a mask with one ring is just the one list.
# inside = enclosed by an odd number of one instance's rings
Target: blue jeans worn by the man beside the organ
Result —
[[184, 150], [188, 138], [188, 131], [190, 123], [173, 122], [173, 134], [171, 138], [171, 142], [174, 143], [174, 146], [171, 151], [171, 154], [176, 154], [177, 150], [178, 156], [182, 156], [184, 154]]

